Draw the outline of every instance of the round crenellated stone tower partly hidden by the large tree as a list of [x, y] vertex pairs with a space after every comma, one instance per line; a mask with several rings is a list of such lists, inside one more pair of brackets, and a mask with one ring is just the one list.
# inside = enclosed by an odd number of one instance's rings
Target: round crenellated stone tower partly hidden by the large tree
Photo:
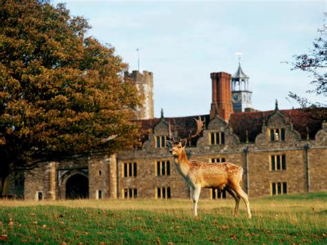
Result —
[[133, 70], [132, 73], [125, 72], [135, 82], [140, 94], [143, 95], [142, 106], [137, 108], [137, 118], [135, 119], [151, 119], [155, 117], [153, 104], [153, 73], [143, 70]]

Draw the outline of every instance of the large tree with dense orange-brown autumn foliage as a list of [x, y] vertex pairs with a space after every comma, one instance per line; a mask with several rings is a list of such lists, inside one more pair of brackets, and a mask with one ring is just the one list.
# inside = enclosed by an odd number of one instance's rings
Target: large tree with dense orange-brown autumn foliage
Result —
[[139, 97], [115, 48], [63, 4], [0, 1], [0, 195], [38, 163], [135, 145]]

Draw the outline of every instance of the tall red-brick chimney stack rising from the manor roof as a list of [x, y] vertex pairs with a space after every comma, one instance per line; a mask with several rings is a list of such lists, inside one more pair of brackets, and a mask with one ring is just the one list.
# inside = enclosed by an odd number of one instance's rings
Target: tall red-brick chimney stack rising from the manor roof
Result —
[[216, 110], [218, 110], [219, 117], [228, 121], [230, 114], [233, 112], [232, 90], [230, 89], [232, 75], [226, 72], [212, 72], [210, 77], [212, 80], [210, 119], [215, 117]]

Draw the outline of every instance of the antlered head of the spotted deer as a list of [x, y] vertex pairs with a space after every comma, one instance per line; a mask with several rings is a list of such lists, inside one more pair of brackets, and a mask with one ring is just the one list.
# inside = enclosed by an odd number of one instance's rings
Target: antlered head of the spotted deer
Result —
[[170, 130], [170, 125], [169, 125], [169, 135], [167, 137], [167, 142], [168, 142], [168, 146], [170, 148], [169, 152], [173, 156], [177, 157], [177, 156], [181, 155], [181, 153], [185, 149], [188, 141], [190, 141], [190, 139], [192, 139], [194, 137], [197, 137], [197, 135], [199, 135], [201, 133], [201, 131], [203, 130], [204, 121], [201, 120], [201, 117], [199, 117], [199, 119], [195, 119], [195, 121], [197, 123], [197, 131], [195, 132], [195, 134], [192, 135], [192, 131], [190, 131], [189, 136], [187, 138], [179, 139], [179, 140], [175, 140], [174, 137], [172, 137], [172, 132]]

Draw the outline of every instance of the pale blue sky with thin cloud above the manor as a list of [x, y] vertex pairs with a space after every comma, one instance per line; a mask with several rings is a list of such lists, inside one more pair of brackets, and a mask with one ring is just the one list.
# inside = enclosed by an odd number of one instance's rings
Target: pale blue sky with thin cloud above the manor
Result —
[[[154, 73], [155, 117], [210, 111], [210, 72], [250, 77], [252, 107], [297, 108], [288, 91], [311, 101], [308, 73], [291, 70], [294, 55], [307, 53], [324, 24], [327, 1], [91, 1], [63, 0], [73, 16], [88, 20], [88, 35], [110, 43], [129, 70]], [[139, 49], [139, 52], [137, 52]], [[286, 63], [290, 62], [290, 63]]]

